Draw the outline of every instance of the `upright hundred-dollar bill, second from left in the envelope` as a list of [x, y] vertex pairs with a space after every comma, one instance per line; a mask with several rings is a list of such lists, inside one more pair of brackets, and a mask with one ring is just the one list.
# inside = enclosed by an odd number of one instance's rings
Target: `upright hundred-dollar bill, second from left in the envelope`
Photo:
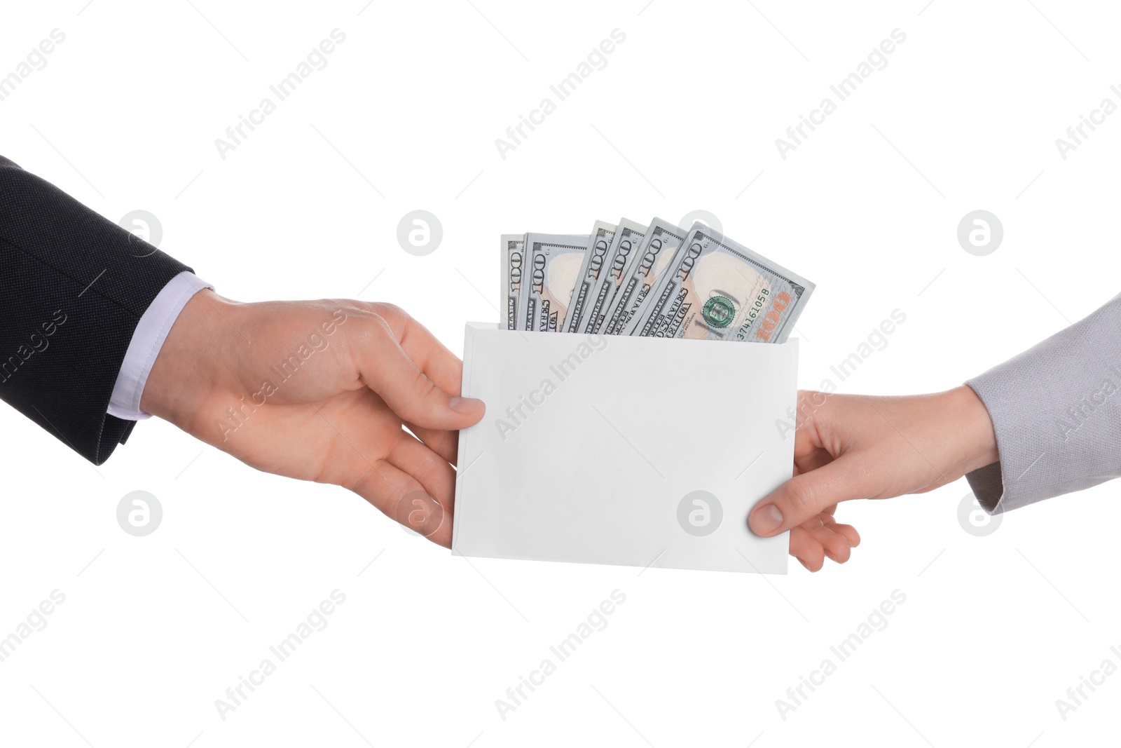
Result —
[[521, 330], [556, 332], [564, 323], [590, 240], [587, 234], [526, 234], [529, 267], [519, 299]]

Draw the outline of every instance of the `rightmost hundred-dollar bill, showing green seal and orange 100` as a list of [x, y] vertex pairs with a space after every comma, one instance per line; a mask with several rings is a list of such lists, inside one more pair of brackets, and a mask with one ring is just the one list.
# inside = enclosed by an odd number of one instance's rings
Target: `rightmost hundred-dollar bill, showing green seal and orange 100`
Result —
[[627, 334], [781, 343], [813, 292], [802, 276], [697, 222]]

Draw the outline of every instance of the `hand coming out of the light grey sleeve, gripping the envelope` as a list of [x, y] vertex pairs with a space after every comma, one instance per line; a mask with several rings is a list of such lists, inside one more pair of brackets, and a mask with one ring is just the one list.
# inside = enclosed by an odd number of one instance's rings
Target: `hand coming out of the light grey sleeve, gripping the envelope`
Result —
[[969, 387], [871, 397], [798, 393], [795, 477], [751, 510], [763, 537], [790, 530], [790, 555], [812, 572], [849, 560], [860, 535], [839, 525], [839, 501], [923, 493], [999, 460], [984, 404]]

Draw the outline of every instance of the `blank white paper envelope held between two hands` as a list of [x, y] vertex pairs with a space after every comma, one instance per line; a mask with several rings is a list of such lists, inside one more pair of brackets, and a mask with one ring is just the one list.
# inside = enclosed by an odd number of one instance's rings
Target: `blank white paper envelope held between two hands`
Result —
[[798, 341], [467, 323], [452, 553], [785, 574], [749, 509], [794, 463]]

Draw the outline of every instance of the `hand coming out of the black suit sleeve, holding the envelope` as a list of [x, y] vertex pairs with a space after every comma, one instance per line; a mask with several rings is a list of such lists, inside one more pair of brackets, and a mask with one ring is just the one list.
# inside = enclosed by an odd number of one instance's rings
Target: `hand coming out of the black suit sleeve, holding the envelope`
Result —
[[140, 407], [258, 470], [348, 488], [451, 547], [457, 432], [484, 410], [460, 397], [461, 377], [461, 361], [390, 304], [239, 304], [204, 289]]

